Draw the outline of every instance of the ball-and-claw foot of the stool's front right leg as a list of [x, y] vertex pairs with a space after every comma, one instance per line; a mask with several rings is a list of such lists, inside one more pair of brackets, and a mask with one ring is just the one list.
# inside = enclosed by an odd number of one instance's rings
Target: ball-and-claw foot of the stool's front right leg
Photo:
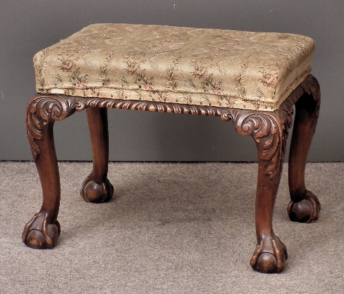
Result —
[[288, 259], [286, 246], [277, 236], [266, 238], [257, 245], [250, 266], [259, 273], [279, 273]]

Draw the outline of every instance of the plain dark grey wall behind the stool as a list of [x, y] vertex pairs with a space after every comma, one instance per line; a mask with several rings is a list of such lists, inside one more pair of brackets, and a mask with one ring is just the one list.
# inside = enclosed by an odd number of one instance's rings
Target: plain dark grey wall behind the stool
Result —
[[[1, 0], [0, 160], [31, 160], [25, 106], [32, 56], [90, 23], [145, 23], [305, 34], [322, 92], [310, 161], [343, 161], [343, 0]], [[220, 118], [109, 110], [111, 160], [256, 160], [252, 138]], [[55, 124], [59, 160], [92, 160], [85, 112]]]

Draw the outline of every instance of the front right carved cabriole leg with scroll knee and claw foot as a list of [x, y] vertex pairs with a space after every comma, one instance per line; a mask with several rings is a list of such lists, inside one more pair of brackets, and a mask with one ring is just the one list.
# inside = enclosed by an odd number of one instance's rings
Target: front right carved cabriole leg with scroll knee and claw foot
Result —
[[250, 265], [261, 273], [279, 273], [288, 258], [286, 246], [272, 229], [272, 215], [281, 171], [292, 107], [286, 103], [276, 112], [226, 110], [223, 120], [232, 120], [239, 134], [252, 136], [258, 149], [259, 169], [256, 195], [257, 248]]

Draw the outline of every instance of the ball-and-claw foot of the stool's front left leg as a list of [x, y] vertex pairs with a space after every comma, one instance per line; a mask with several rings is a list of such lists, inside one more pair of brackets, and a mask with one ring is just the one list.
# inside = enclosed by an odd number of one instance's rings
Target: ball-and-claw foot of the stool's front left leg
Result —
[[57, 244], [61, 227], [56, 220], [54, 224], [47, 221], [47, 213], [36, 213], [32, 220], [26, 224], [22, 240], [34, 249], [52, 249]]

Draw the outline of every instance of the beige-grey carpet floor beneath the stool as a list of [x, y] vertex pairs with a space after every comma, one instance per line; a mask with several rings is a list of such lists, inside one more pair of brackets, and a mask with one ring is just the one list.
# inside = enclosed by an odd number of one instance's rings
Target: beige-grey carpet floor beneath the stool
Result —
[[0, 293], [343, 293], [344, 162], [311, 163], [321, 200], [312, 224], [290, 222], [285, 165], [275, 233], [286, 269], [252, 271], [256, 163], [111, 163], [115, 197], [79, 196], [92, 165], [60, 162], [61, 236], [39, 251], [21, 232], [41, 207], [32, 162], [0, 162]]

